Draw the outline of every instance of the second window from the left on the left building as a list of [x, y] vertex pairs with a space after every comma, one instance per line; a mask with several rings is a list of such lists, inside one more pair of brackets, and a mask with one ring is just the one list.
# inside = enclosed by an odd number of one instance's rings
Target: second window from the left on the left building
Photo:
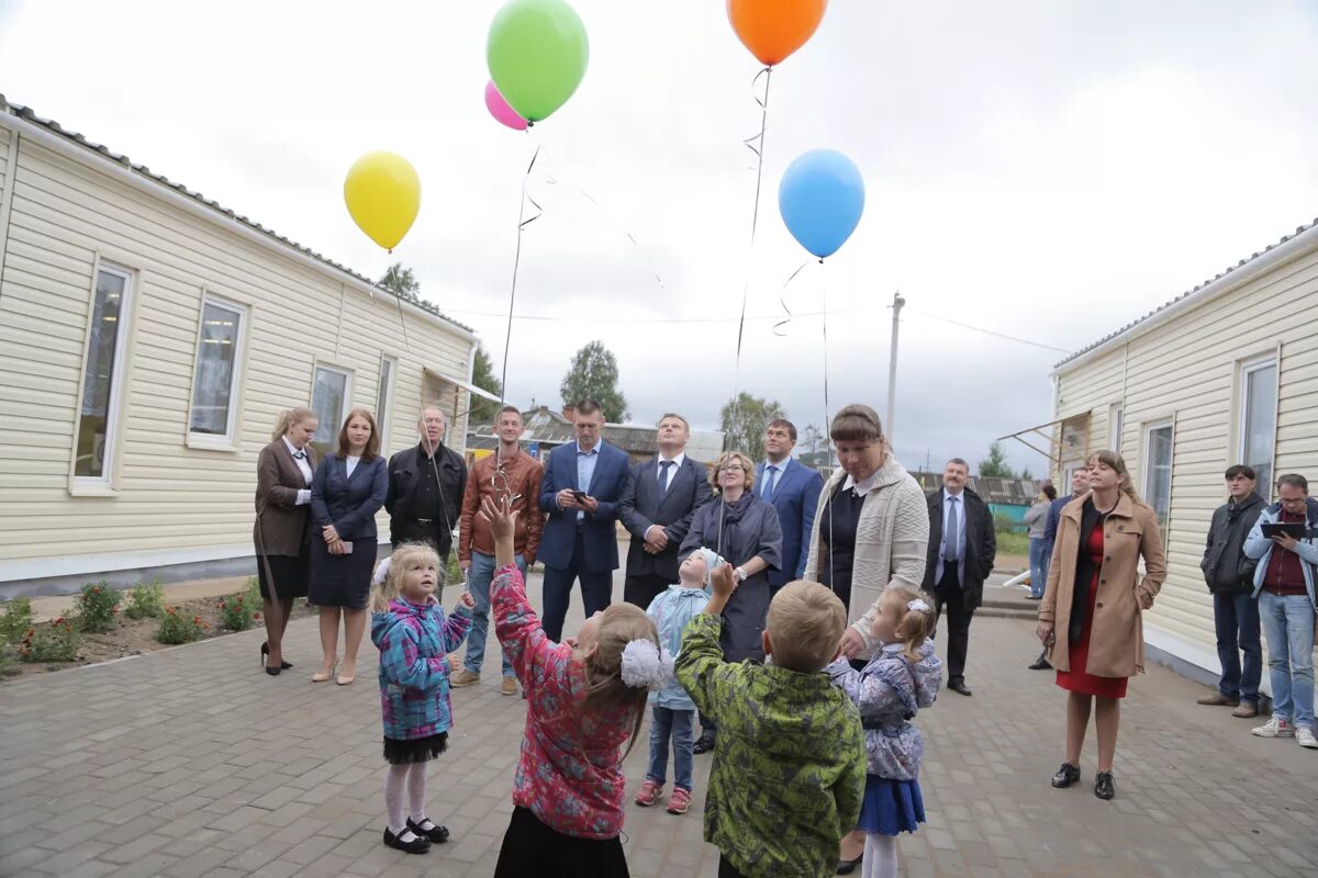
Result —
[[241, 305], [211, 296], [202, 299], [188, 434], [203, 445], [229, 446], [235, 441], [245, 316]]

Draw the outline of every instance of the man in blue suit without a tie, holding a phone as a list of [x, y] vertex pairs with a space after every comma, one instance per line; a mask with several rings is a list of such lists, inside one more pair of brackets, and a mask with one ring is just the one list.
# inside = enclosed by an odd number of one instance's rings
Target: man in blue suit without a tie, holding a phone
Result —
[[550, 453], [540, 482], [544, 532], [539, 559], [544, 562], [544, 613], [550, 640], [563, 637], [563, 620], [572, 600], [572, 582], [581, 581], [585, 615], [609, 606], [613, 571], [618, 569], [614, 521], [627, 480], [627, 454], [600, 438], [604, 412], [584, 399], [573, 409], [576, 441]]

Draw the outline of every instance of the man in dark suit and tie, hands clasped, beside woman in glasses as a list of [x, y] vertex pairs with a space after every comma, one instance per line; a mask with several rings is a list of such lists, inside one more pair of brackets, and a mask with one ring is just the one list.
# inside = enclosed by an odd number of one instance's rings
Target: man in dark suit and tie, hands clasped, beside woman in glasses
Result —
[[659, 457], [635, 463], [618, 504], [631, 534], [623, 600], [642, 609], [677, 582], [677, 546], [691, 516], [714, 495], [705, 465], [687, 457], [691, 426], [681, 415], [659, 419]]

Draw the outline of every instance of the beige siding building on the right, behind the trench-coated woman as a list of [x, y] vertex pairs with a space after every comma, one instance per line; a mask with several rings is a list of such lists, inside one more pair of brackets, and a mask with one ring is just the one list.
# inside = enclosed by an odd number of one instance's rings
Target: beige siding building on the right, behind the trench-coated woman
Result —
[[[1054, 465], [1112, 448], [1162, 523], [1168, 581], [1145, 617], [1157, 656], [1219, 663], [1199, 559], [1224, 470], [1318, 479], [1318, 221], [1058, 363]], [[1267, 674], [1264, 674], [1267, 684]]]

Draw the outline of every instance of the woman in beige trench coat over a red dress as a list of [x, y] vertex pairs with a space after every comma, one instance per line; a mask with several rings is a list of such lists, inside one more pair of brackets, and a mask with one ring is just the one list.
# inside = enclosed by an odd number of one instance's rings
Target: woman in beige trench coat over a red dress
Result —
[[[1152, 507], [1131, 487], [1115, 452], [1089, 458], [1090, 492], [1068, 503], [1057, 524], [1039, 638], [1068, 690], [1066, 761], [1054, 787], [1079, 781], [1079, 752], [1093, 706], [1098, 731], [1094, 795], [1111, 799], [1112, 758], [1126, 682], [1144, 670], [1143, 613], [1166, 578], [1162, 536]], [[1140, 577], [1140, 559], [1144, 577]]]

